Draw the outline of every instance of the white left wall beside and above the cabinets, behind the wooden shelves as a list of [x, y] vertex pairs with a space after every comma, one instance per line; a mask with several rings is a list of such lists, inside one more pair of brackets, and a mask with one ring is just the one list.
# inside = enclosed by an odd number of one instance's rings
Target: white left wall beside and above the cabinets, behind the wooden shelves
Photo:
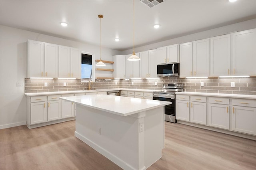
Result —
[[[16, 87], [16, 83], [24, 83], [27, 68], [27, 41], [65, 45], [94, 53], [95, 59], [100, 59], [100, 47], [86, 43], [65, 40], [36, 32], [0, 26], [0, 128], [14, 127], [26, 124], [26, 97], [24, 87]], [[120, 51], [102, 47], [102, 60], [112, 60], [112, 55]], [[112, 65], [107, 65], [107, 68]], [[97, 73], [95, 77], [112, 77]]]

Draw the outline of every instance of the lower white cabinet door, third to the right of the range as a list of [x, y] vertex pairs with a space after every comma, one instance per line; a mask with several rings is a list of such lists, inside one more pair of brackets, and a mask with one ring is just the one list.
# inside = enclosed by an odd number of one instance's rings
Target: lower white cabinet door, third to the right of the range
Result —
[[209, 104], [208, 125], [229, 130], [229, 106]]

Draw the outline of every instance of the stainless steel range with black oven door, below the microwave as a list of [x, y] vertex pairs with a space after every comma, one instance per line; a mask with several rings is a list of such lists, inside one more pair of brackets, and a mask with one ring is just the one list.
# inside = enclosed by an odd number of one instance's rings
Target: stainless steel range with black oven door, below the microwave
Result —
[[171, 101], [171, 105], [164, 107], [164, 120], [176, 123], [175, 116], [175, 93], [183, 91], [183, 83], [163, 84], [161, 91], [153, 92], [153, 100]]

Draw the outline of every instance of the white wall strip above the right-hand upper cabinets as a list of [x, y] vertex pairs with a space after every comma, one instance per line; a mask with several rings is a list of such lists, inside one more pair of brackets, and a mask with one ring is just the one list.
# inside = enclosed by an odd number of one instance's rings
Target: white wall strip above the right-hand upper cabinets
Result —
[[[204, 32], [198, 32], [195, 34], [190, 34], [187, 36], [182, 36], [182, 37], [174, 38], [171, 40], [166, 40], [166, 41], [162, 41], [162, 42], [152, 43], [149, 45], [144, 45], [141, 47], [136, 47], [135, 52], [147, 51], [150, 49], [156, 49], [158, 47], [164, 47], [166, 45], [172, 45], [172, 44], [176, 44], [176, 43], [192, 42], [192, 41], [201, 40], [204, 38], [210, 38], [210, 37], [214, 37], [214, 36], [228, 34], [231, 32], [250, 30], [253, 28], [256, 28], [256, 19], [239, 22], [236, 24], [231, 24], [228, 26], [223, 26], [223, 27], [212, 29], [212, 30], [207, 30]], [[122, 51], [122, 54], [120, 54], [120, 55], [128, 55], [128, 54], [132, 53], [132, 51], [133, 51], [133, 49], [128, 49], [128, 50]]]

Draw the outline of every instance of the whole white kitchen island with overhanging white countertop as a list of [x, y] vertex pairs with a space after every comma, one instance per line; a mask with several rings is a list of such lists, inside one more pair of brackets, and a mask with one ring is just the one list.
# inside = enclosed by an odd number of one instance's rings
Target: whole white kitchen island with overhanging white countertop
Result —
[[164, 106], [171, 102], [114, 95], [62, 97], [76, 103], [75, 136], [125, 170], [162, 157]]

